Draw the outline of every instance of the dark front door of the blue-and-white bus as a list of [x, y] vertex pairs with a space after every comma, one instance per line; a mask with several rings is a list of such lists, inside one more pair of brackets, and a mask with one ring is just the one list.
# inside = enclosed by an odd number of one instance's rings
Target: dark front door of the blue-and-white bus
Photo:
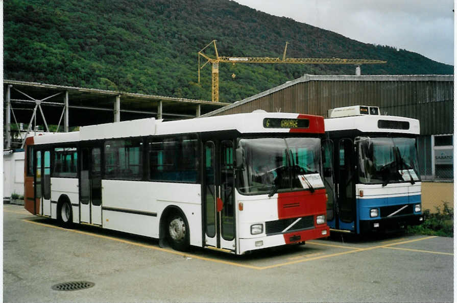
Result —
[[355, 231], [354, 144], [349, 138], [339, 141], [338, 225], [337, 229]]

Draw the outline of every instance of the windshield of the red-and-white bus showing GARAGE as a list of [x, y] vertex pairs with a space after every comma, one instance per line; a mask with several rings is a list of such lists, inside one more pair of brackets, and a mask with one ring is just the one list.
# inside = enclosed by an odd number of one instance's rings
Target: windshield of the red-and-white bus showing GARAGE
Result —
[[240, 139], [238, 191], [273, 195], [280, 191], [323, 187], [319, 138]]

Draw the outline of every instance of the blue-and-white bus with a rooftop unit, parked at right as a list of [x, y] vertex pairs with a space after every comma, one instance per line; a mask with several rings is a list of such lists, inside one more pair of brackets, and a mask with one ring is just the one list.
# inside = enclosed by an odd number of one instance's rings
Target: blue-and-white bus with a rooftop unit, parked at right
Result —
[[369, 106], [332, 109], [328, 117], [323, 163], [330, 229], [364, 234], [423, 222], [419, 120]]

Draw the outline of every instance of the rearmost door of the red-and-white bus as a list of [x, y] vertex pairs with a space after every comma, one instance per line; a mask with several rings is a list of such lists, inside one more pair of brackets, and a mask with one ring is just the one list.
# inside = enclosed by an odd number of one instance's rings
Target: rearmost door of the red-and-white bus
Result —
[[[37, 150], [35, 153], [35, 205], [38, 214], [51, 216], [51, 151]], [[38, 206], [38, 207], [37, 207]]]

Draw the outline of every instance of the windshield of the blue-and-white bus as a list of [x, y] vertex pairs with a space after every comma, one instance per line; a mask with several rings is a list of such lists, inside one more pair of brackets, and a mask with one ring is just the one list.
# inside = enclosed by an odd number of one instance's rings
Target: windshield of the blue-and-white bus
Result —
[[416, 139], [357, 137], [360, 182], [380, 184], [419, 181]]

